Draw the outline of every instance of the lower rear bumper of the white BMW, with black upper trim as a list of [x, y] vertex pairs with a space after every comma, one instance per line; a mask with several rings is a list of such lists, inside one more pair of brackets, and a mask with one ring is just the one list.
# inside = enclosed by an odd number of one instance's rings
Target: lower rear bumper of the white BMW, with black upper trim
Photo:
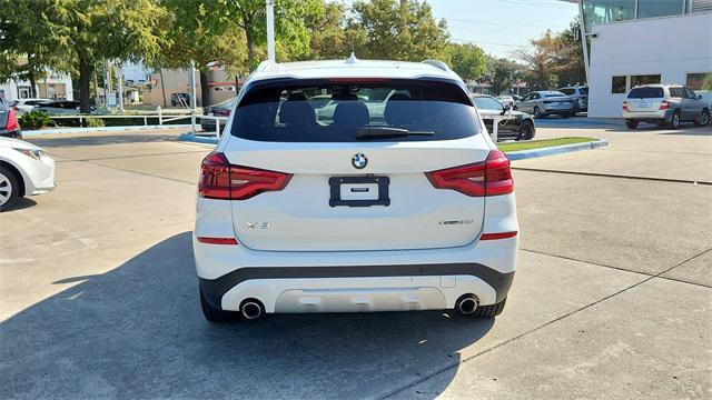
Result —
[[496, 303], [513, 279], [514, 271], [452, 263], [241, 268], [199, 281], [208, 303], [224, 310], [253, 298], [266, 312], [367, 312], [451, 309], [466, 293]]

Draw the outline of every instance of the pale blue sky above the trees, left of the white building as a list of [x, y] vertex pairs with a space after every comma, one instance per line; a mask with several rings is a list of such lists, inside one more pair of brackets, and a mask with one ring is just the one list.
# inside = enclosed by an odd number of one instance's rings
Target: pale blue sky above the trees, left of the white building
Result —
[[[350, 0], [346, 0], [350, 3]], [[558, 0], [427, 0], [435, 17], [447, 21], [455, 42], [471, 42], [485, 52], [512, 58], [546, 29], [562, 31], [578, 14], [578, 6]]]

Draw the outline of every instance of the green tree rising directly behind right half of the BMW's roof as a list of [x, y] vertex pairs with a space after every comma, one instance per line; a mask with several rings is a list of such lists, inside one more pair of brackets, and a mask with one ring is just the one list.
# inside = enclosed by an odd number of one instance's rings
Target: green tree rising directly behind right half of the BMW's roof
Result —
[[448, 32], [418, 0], [355, 1], [346, 43], [364, 59], [422, 61], [445, 57]]

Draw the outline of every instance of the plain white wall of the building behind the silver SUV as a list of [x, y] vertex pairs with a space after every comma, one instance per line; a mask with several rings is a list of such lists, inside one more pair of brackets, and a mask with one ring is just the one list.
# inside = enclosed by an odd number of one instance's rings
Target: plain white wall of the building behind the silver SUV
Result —
[[614, 76], [661, 74], [662, 83], [685, 84], [688, 73], [712, 72], [712, 13], [599, 24], [592, 33], [590, 117], [621, 117], [625, 93], [611, 92]]

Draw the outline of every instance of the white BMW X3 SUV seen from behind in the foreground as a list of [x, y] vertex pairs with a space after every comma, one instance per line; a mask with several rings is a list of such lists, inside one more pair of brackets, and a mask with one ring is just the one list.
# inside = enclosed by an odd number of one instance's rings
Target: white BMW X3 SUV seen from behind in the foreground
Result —
[[202, 161], [200, 302], [214, 322], [439, 309], [494, 317], [517, 232], [510, 161], [443, 62], [264, 62]]

